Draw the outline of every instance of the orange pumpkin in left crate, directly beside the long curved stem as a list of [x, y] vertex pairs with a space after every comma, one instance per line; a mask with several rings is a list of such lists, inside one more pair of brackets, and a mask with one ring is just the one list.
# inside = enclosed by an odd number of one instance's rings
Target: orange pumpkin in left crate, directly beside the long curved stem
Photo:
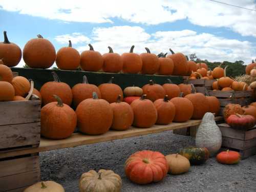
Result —
[[29, 80], [22, 76], [16, 76], [12, 79], [12, 86], [15, 90], [15, 95], [25, 96], [30, 90]]

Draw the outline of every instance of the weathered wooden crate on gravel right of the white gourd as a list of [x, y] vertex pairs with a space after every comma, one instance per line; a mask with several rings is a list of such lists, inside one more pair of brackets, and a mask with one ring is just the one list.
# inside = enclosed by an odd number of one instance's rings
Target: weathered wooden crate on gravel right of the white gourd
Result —
[[235, 149], [242, 159], [256, 154], [256, 126], [250, 130], [232, 129], [228, 124], [218, 124], [222, 133], [222, 146]]

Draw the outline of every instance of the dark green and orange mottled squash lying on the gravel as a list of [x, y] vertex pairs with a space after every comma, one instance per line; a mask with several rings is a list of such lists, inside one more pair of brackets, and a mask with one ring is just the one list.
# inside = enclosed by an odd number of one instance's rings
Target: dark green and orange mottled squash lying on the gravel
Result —
[[205, 147], [186, 147], [180, 150], [180, 155], [186, 157], [190, 164], [203, 164], [209, 159], [209, 151]]

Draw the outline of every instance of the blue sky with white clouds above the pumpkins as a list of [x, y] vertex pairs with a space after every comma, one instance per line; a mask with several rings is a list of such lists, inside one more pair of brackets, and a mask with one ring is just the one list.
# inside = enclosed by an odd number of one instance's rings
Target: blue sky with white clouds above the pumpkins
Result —
[[[222, 2], [256, 9], [253, 0]], [[248, 64], [256, 58], [255, 18], [256, 11], [209, 0], [0, 1], [0, 31], [22, 49], [41, 34], [56, 51], [71, 39], [79, 52], [89, 43], [102, 54], [108, 46], [121, 54], [135, 45], [137, 53], [144, 47], [156, 54], [172, 48], [209, 61]]]

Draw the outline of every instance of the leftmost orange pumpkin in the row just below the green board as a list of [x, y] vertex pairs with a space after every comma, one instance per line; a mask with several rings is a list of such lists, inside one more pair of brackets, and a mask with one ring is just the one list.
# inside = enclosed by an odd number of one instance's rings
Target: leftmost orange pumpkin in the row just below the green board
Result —
[[71, 105], [73, 98], [71, 88], [67, 83], [60, 82], [55, 72], [52, 72], [52, 75], [54, 81], [46, 82], [40, 89], [42, 104], [46, 105], [47, 103], [56, 101], [53, 95], [58, 95], [63, 103]]

